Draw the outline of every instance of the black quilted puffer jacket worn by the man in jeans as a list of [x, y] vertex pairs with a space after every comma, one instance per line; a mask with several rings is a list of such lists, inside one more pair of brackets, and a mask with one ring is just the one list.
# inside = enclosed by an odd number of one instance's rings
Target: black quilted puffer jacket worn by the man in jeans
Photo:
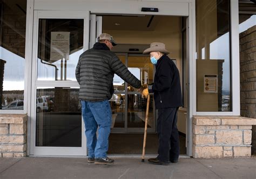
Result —
[[96, 43], [92, 49], [82, 53], [76, 67], [76, 79], [80, 85], [79, 99], [85, 101], [111, 99], [114, 73], [131, 86], [140, 88], [140, 80], [134, 77], [106, 44]]

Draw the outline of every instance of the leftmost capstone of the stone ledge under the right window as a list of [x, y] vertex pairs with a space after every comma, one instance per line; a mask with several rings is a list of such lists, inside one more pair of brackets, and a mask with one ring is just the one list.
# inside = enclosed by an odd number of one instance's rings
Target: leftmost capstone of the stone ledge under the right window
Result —
[[221, 120], [218, 116], [194, 116], [193, 123], [194, 125], [213, 126], [220, 125]]

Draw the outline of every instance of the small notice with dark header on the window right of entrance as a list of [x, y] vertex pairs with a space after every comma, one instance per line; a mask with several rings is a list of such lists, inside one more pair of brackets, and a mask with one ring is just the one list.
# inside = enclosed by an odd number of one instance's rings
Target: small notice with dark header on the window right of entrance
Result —
[[204, 92], [218, 93], [218, 75], [217, 74], [204, 75]]

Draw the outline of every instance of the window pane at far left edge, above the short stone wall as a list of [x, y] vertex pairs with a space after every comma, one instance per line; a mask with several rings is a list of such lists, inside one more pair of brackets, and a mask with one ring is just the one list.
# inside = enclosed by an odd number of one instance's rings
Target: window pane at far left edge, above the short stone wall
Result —
[[23, 110], [26, 0], [0, 6], [0, 109]]

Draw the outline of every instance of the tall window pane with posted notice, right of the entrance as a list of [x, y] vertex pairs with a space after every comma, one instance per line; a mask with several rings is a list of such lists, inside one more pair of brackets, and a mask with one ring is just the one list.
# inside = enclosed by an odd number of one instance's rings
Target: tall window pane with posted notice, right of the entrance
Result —
[[196, 22], [197, 111], [232, 111], [230, 1], [197, 0]]

